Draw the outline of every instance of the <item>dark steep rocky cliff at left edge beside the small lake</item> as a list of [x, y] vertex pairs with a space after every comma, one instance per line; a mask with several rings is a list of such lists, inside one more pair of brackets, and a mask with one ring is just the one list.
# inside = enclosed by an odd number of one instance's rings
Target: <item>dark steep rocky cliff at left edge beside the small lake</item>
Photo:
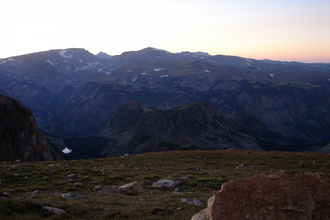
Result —
[[0, 95], [0, 161], [60, 160], [61, 151], [47, 140], [30, 110], [19, 101]]

